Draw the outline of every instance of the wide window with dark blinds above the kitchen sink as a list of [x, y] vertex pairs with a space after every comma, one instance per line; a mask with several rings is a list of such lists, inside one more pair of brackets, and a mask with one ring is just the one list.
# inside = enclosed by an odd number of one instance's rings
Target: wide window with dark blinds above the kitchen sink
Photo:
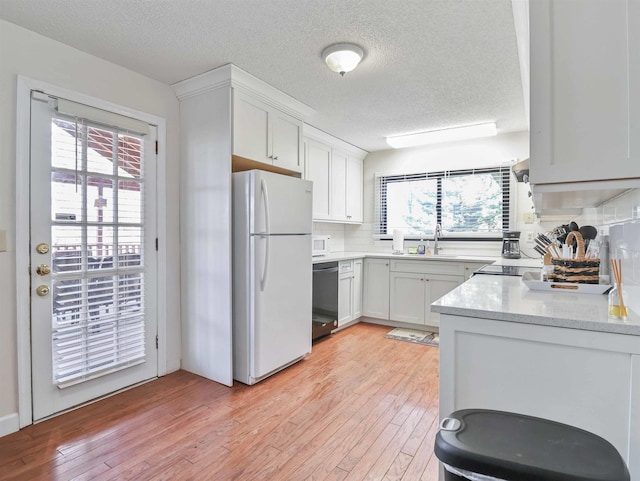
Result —
[[440, 224], [450, 239], [500, 238], [509, 230], [509, 184], [508, 167], [376, 174], [376, 236], [431, 237]]

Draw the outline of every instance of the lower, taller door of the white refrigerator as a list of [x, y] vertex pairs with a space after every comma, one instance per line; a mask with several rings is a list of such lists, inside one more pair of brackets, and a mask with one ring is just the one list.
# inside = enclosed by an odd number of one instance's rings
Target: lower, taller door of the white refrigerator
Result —
[[261, 378], [311, 352], [311, 236], [253, 236], [252, 243], [250, 375]]

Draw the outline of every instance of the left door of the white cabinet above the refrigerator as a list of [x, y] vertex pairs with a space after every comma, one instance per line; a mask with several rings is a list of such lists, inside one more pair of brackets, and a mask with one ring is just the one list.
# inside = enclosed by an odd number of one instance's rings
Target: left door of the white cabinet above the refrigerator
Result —
[[234, 92], [233, 153], [271, 164], [269, 149], [269, 107], [256, 99]]

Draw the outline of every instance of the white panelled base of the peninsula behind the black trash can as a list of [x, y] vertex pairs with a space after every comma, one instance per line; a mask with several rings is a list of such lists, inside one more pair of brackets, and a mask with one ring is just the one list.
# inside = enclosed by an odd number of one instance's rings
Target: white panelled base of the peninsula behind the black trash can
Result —
[[612, 443], [631, 479], [640, 479], [637, 336], [444, 314], [442, 321], [440, 418], [476, 408], [570, 424]]

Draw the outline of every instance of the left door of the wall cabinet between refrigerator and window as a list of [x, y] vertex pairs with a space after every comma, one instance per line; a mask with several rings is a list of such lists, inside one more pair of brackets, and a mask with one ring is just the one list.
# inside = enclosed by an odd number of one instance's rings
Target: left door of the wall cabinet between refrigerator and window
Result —
[[313, 220], [328, 220], [331, 217], [331, 147], [308, 139], [306, 151], [306, 178], [313, 182]]

